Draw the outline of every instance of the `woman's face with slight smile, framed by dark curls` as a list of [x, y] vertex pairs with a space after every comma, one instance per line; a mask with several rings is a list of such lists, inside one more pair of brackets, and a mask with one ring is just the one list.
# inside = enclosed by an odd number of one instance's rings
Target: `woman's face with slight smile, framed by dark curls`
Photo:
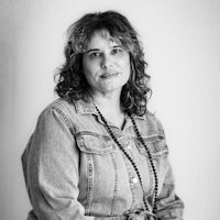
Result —
[[130, 77], [130, 55], [107, 32], [96, 32], [84, 53], [82, 67], [92, 95], [121, 92]]

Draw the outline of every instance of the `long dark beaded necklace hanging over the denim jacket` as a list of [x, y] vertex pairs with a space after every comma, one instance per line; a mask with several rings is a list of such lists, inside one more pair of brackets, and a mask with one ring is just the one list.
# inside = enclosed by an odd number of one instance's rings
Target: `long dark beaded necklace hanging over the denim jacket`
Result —
[[[124, 150], [124, 147], [121, 145], [121, 143], [118, 141], [118, 139], [116, 138], [116, 135], [113, 134], [112, 130], [110, 129], [107, 120], [105, 119], [105, 117], [102, 116], [102, 113], [100, 112], [100, 110], [98, 109], [98, 107], [95, 105], [95, 108], [99, 114], [99, 117], [101, 118], [101, 120], [103, 121], [106, 128], [107, 128], [107, 131], [109, 132], [109, 134], [111, 135], [111, 138], [113, 139], [113, 141], [116, 142], [116, 144], [120, 147], [120, 150], [123, 152], [123, 154], [127, 156], [127, 158], [130, 161], [130, 163], [132, 164], [138, 177], [139, 177], [139, 180], [140, 180], [140, 185], [141, 185], [141, 188], [142, 188], [142, 191], [143, 191], [143, 195], [144, 195], [144, 188], [143, 188], [143, 182], [142, 182], [142, 177], [141, 177], [141, 174], [139, 172], [139, 168], [138, 168], [138, 165], [135, 164], [135, 162], [133, 161], [133, 158], [128, 154], [128, 152]], [[156, 211], [156, 197], [157, 197], [157, 191], [158, 191], [158, 177], [157, 177], [157, 174], [156, 174], [156, 168], [155, 168], [155, 165], [153, 163], [153, 157], [151, 155], [151, 152], [148, 151], [138, 127], [136, 127], [136, 123], [133, 119], [132, 116], [130, 116], [131, 118], [131, 121], [132, 121], [132, 124], [134, 127], [134, 132], [136, 133], [136, 136], [139, 139], [139, 141], [141, 142], [141, 144], [145, 147], [146, 150], [146, 153], [148, 155], [148, 160], [150, 160], [150, 164], [151, 164], [151, 167], [152, 167], [152, 170], [153, 170], [153, 174], [154, 174], [154, 179], [155, 179], [155, 188], [154, 188], [154, 200], [153, 200], [153, 213]], [[145, 209], [146, 210], [150, 210], [148, 209], [148, 206], [143, 197], [143, 202], [144, 202], [144, 206], [145, 206]]]

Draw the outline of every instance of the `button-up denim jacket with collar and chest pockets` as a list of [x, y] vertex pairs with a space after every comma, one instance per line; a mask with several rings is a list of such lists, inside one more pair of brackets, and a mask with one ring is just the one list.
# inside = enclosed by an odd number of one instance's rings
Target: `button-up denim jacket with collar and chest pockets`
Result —
[[[168, 148], [161, 122], [147, 112], [134, 117], [158, 176], [156, 212], [152, 213], [154, 175], [146, 150], [127, 117], [123, 130], [108, 122], [136, 163], [143, 189], [130, 161], [109, 135], [91, 101], [52, 102], [38, 117], [22, 155], [29, 220], [183, 219], [175, 195]], [[150, 210], [144, 210], [143, 198]], [[134, 218], [135, 219], [135, 218]]]

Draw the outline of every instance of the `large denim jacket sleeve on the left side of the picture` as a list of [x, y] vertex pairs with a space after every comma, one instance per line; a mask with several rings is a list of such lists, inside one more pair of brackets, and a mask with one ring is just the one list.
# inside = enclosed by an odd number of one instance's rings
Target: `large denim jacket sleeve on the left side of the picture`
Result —
[[26, 186], [38, 220], [94, 220], [77, 201], [79, 152], [64, 117], [46, 109], [26, 157]]

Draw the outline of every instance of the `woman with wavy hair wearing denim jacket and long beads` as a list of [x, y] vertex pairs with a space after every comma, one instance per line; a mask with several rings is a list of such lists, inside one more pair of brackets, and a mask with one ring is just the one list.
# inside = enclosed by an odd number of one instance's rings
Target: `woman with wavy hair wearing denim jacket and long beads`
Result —
[[89, 13], [68, 29], [59, 99], [40, 116], [22, 155], [29, 220], [178, 219], [168, 150], [146, 110], [138, 34], [122, 14]]

